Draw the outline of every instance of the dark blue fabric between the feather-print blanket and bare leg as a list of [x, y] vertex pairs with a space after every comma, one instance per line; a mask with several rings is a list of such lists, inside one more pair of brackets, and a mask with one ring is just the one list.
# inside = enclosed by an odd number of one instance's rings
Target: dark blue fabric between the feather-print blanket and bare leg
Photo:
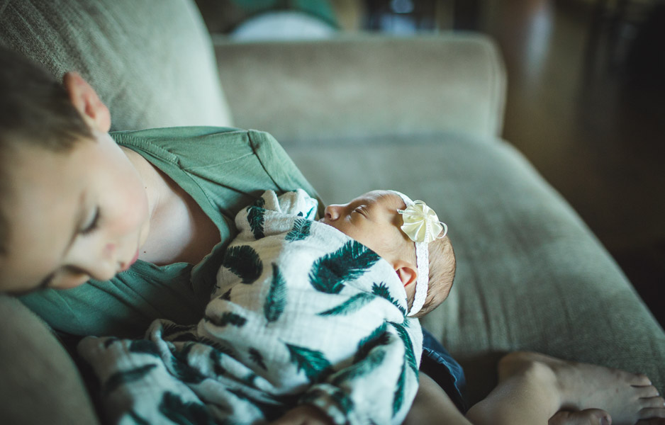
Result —
[[420, 371], [435, 380], [452, 399], [457, 409], [466, 413], [464, 370], [440, 342], [425, 329], [423, 329], [423, 358], [420, 361]]

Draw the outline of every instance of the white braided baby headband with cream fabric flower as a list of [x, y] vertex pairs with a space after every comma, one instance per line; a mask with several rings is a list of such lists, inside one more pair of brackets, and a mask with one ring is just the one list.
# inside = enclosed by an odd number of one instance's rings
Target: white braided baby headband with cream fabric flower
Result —
[[[405, 194], [396, 193], [406, 204], [405, 210], [397, 210], [402, 215], [402, 232], [415, 242], [415, 266], [418, 268], [418, 280], [415, 281], [415, 296], [408, 316], [413, 316], [423, 308], [427, 298], [427, 286], [430, 280], [430, 250], [427, 244], [441, 239], [448, 233], [448, 226], [439, 221], [437, 213], [422, 200], [411, 200]], [[443, 232], [443, 234], [441, 234]]]

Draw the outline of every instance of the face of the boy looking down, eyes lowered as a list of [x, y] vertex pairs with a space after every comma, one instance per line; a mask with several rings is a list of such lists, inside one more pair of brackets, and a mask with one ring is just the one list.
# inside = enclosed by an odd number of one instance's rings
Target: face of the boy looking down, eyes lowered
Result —
[[108, 280], [138, 258], [150, 226], [146, 188], [108, 133], [94, 134], [71, 152], [13, 154], [0, 292]]

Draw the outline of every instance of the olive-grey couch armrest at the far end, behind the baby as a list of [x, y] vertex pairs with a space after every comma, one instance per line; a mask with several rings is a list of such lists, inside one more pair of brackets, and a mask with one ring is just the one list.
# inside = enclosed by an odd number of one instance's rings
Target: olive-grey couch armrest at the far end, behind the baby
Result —
[[505, 70], [484, 35], [213, 44], [235, 125], [280, 142], [501, 133]]

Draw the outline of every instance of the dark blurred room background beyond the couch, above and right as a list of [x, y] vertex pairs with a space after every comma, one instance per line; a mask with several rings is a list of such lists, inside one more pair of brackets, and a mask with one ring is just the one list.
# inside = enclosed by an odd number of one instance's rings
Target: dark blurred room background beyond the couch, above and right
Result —
[[503, 138], [596, 233], [665, 325], [665, 1], [201, 1], [238, 40], [491, 35], [508, 72]]

